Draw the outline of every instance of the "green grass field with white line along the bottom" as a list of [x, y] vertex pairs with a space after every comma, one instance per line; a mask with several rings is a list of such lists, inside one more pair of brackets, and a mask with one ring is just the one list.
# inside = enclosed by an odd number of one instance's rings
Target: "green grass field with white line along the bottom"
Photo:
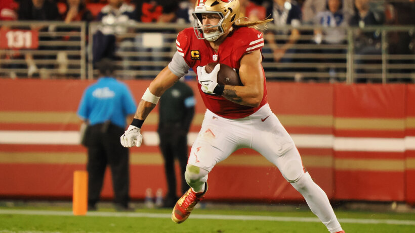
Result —
[[[328, 232], [311, 213], [230, 208], [195, 209], [182, 224], [170, 219], [170, 209], [140, 208], [115, 212], [111, 208], [73, 216], [69, 206], [0, 207], [0, 233], [9, 232]], [[415, 232], [415, 213], [336, 210], [347, 233]]]

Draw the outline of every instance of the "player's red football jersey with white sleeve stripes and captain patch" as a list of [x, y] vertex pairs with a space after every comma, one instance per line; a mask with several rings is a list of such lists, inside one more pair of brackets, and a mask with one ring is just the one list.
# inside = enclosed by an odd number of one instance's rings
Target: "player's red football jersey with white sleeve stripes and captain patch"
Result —
[[[176, 45], [179, 54], [184, 57], [187, 65], [195, 72], [197, 67], [208, 65], [211, 62], [225, 64], [238, 70], [240, 67], [239, 61], [245, 53], [261, 49], [264, 46], [264, 35], [253, 28], [241, 27], [234, 29], [219, 45], [218, 52], [215, 52], [208, 41], [197, 39], [193, 28], [186, 28], [177, 36]], [[204, 105], [224, 118], [239, 119], [251, 115], [267, 103], [264, 69], [262, 69], [262, 72], [264, 74], [264, 96], [258, 107], [240, 105], [227, 100], [223, 96], [208, 95], [200, 89], [198, 83]]]

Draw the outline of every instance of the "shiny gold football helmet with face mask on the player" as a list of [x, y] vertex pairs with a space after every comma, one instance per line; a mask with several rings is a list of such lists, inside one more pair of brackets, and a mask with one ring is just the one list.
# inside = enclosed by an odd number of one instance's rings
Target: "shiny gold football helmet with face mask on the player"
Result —
[[[220, 21], [217, 25], [203, 25], [202, 14], [217, 14]], [[233, 23], [239, 18], [238, 0], [198, 0], [194, 12], [193, 30], [198, 39], [209, 41], [217, 40], [221, 35], [228, 32]], [[206, 33], [204, 30], [216, 28], [215, 32]]]

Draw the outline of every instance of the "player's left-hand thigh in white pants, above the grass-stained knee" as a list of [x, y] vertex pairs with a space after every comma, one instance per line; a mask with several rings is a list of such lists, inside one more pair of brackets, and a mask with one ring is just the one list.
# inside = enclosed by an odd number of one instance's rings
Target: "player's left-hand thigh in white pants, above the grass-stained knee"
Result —
[[200, 132], [190, 150], [188, 164], [211, 171], [236, 149], [229, 125], [205, 114]]

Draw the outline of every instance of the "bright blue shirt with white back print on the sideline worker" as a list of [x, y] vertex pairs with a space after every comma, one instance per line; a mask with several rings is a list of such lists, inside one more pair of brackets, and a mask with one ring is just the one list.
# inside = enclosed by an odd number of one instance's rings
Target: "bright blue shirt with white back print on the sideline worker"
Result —
[[79, 103], [77, 114], [90, 125], [109, 120], [121, 128], [126, 127], [126, 118], [136, 112], [136, 103], [126, 84], [111, 77], [103, 77], [89, 86]]

